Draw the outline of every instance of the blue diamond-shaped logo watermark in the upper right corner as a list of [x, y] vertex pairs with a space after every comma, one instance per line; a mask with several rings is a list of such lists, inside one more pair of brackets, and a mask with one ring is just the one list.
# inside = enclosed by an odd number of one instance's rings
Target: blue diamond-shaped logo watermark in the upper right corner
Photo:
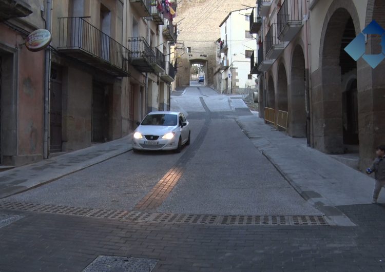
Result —
[[[380, 35], [382, 52], [380, 54], [365, 54], [365, 34], [366, 35]], [[367, 27], [359, 33], [350, 44], [344, 48], [344, 50], [353, 58], [358, 61], [360, 57], [364, 59], [373, 69], [385, 59], [385, 30], [377, 24], [376, 21], [372, 21]]]

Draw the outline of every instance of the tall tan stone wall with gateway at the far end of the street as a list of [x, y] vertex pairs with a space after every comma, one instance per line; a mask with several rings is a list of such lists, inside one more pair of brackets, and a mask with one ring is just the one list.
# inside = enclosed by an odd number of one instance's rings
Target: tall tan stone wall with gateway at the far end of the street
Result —
[[205, 66], [206, 85], [214, 87], [219, 25], [230, 11], [244, 6], [255, 6], [255, 0], [191, 0], [178, 5], [178, 16], [175, 18], [179, 22], [176, 87], [189, 85], [192, 64]]

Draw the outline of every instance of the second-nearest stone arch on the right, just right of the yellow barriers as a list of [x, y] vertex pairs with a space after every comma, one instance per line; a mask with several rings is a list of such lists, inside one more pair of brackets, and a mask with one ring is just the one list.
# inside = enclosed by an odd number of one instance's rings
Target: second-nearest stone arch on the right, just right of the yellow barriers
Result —
[[293, 49], [288, 90], [288, 134], [306, 137], [305, 55], [300, 44]]

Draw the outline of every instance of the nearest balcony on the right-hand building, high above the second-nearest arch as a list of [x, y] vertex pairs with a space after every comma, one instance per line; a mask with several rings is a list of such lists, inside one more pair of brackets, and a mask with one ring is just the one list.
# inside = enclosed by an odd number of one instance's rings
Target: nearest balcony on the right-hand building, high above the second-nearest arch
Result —
[[302, 1], [285, 0], [277, 13], [278, 38], [290, 42], [302, 28]]

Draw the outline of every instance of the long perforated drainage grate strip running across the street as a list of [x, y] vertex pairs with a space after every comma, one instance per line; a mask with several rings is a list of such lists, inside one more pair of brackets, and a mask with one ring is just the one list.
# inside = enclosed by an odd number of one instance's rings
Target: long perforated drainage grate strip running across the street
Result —
[[207, 224], [207, 225], [266, 225], [266, 226], [326, 226], [329, 225], [323, 216], [220, 216], [220, 215], [187, 215], [178, 213], [160, 213], [127, 210], [109, 210], [76, 208], [70, 206], [33, 204], [26, 202], [0, 202], [0, 208], [26, 210], [36, 212], [59, 213], [63, 215], [91, 218], [118, 219], [140, 222], [172, 223], [172, 224]]

